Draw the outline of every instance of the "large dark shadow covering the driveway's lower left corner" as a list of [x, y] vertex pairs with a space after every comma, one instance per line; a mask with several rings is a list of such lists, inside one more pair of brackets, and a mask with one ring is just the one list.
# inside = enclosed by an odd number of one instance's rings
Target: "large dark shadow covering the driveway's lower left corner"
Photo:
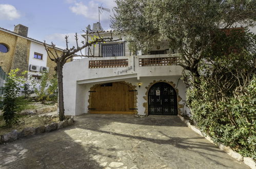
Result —
[[103, 168], [93, 159], [105, 156], [99, 153], [100, 147], [82, 144], [64, 130], [2, 144], [0, 168]]

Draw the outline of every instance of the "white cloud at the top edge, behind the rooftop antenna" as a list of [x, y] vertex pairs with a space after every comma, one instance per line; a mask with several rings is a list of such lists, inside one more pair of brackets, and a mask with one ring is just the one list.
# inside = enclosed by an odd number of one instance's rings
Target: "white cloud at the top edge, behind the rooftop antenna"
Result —
[[[66, 0], [70, 4], [70, 10], [77, 14], [83, 15], [84, 17], [92, 20], [99, 20], [98, 7], [103, 6], [104, 8], [109, 8], [112, 12], [112, 8], [115, 6], [114, 0], [94, 0], [89, 1], [87, 4], [77, 0]], [[110, 14], [107, 11], [103, 11], [100, 15], [101, 21], [110, 20]]]

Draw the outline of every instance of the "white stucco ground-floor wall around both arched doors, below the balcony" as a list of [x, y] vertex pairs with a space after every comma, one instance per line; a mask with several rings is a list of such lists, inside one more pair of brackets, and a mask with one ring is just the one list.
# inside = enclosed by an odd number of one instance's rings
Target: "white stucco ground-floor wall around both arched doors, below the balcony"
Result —
[[[166, 81], [166, 82], [173, 82], [175, 84], [175, 89], [178, 89], [178, 95], [181, 98], [181, 100], [178, 102], [180, 105], [184, 105], [186, 100], [186, 87], [183, 83], [183, 81], [180, 79], [180, 76], [173, 76], [173, 77], [143, 77], [140, 80], [137, 80], [136, 78], [128, 78], [128, 79], [120, 79], [120, 80], [113, 80], [115, 81], [124, 81], [126, 83], [131, 83], [132, 86], [136, 86], [137, 90], [137, 100], [136, 100], [136, 107], [138, 115], [146, 115], [147, 112], [145, 111], [145, 103], [147, 105], [147, 100], [145, 97], [147, 97], [146, 92], [147, 88], [150, 83], [154, 81]], [[109, 82], [109, 81], [108, 81]], [[141, 82], [142, 86], [139, 88], [137, 86], [137, 83]], [[88, 107], [89, 107], [89, 95], [90, 95], [90, 89], [96, 85], [101, 84], [100, 83], [90, 83], [90, 84], [82, 84], [78, 85], [75, 81], [65, 80], [64, 83], [64, 103], [65, 103], [65, 113], [68, 115], [81, 115], [84, 113], [88, 113]], [[183, 114], [189, 114], [189, 109], [187, 107], [180, 108], [180, 112]]]

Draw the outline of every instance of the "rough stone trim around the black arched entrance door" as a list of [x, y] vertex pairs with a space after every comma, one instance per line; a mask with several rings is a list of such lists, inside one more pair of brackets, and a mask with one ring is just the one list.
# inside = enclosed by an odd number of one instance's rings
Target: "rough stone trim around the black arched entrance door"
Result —
[[173, 87], [173, 89], [176, 91], [176, 94], [177, 94], [177, 108], [178, 108], [178, 115], [181, 115], [181, 110], [180, 109], [183, 109], [184, 105], [183, 104], [179, 104], [179, 102], [182, 100], [182, 98], [180, 97], [179, 95], [179, 90], [177, 88], [175, 88], [175, 83], [173, 83], [172, 81], [166, 81], [166, 80], [159, 80], [159, 81], [156, 81], [154, 80], [153, 82], [149, 83], [149, 86], [145, 87], [146, 88], [146, 93], [145, 93], [145, 96], [143, 96], [143, 98], [146, 100], [146, 102], [144, 102], [142, 105], [143, 107], [145, 108], [145, 112], [144, 114], [146, 116], [148, 116], [148, 91], [149, 89], [155, 84], [155, 83], [158, 83], [158, 82], [166, 82], [168, 83], [170, 86]]

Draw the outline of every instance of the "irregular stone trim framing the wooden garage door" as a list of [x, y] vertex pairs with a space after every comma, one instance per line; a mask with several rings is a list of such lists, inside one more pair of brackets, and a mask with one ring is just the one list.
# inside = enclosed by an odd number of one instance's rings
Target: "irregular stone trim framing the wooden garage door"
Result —
[[[132, 83], [129, 83], [129, 82], [126, 82], [126, 81], [114, 81], [114, 82], [119, 82], [119, 83], [124, 83], [125, 85], [129, 86], [131, 88], [131, 90], [136, 90], [136, 86], [132, 85]], [[113, 83], [114, 83], [113, 82]], [[99, 83], [99, 84], [96, 84], [96, 85], [93, 85], [91, 88], [90, 88], [90, 91], [93, 91], [96, 87], [102, 85], [104, 83]], [[138, 95], [138, 92], [133, 92], [133, 99], [134, 99], [134, 109], [137, 108], [137, 95]], [[91, 101], [92, 101], [92, 95], [91, 93], [89, 94], [89, 99], [88, 99], [88, 109], [90, 108], [90, 104], [91, 104]], [[134, 110], [134, 114], [137, 115], [138, 114], [138, 111], [137, 110]]]

